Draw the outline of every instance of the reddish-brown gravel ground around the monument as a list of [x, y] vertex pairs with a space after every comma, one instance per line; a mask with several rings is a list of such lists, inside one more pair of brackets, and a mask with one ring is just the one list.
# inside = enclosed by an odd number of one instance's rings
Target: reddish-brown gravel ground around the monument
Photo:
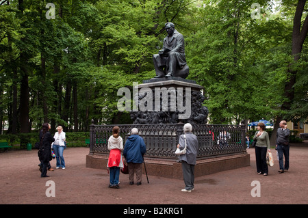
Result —
[[[307, 204], [308, 141], [292, 144], [290, 170], [279, 174], [277, 154], [269, 175], [258, 175], [255, 149], [251, 165], [195, 179], [195, 190], [183, 193], [183, 180], [143, 175], [142, 185], [129, 185], [120, 174], [120, 189], [110, 189], [107, 169], [86, 167], [89, 148], [66, 148], [66, 169], [48, 172], [40, 178], [37, 150], [8, 150], [0, 153], [0, 204]], [[55, 160], [51, 161], [55, 168]], [[55, 197], [47, 197], [47, 181], [54, 182]], [[260, 197], [253, 197], [259, 181]], [[253, 191], [252, 191], [253, 190]]]

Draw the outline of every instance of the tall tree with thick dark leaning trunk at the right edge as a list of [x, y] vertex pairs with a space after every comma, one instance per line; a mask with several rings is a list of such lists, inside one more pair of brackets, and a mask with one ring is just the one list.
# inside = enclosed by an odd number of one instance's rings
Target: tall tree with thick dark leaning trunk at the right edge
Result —
[[[294, 1], [283, 1], [283, 5], [288, 10], [290, 10], [290, 8], [293, 10], [294, 7], [296, 8], [292, 27], [291, 53], [293, 59], [287, 65], [287, 79], [285, 80], [283, 89], [284, 99], [281, 102], [281, 113], [277, 115], [274, 124], [271, 144], [275, 143], [274, 141], [276, 139], [277, 129], [279, 128], [279, 122], [284, 118], [289, 118], [287, 120], [298, 120], [301, 118], [307, 122], [307, 111], [305, 111], [305, 109], [307, 109], [307, 88], [305, 89], [305, 87], [307, 87], [308, 83], [307, 76], [303, 73], [307, 72], [307, 58], [305, 53], [302, 55], [302, 52], [305, 48], [304, 42], [308, 33], [308, 4], [306, 0], [298, 0], [296, 5], [294, 5]], [[297, 83], [298, 81], [300, 82]], [[304, 90], [302, 90], [302, 92], [296, 92], [296, 87], [304, 87]], [[295, 96], [295, 94], [297, 94], [297, 96]]]

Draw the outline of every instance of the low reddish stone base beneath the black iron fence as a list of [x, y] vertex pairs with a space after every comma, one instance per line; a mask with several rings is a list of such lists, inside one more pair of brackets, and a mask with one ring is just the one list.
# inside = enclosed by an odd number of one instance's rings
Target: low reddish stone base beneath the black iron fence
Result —
[[[86, 167], [94, 169], [107, 169], [108, 154], [88, 154], [86, 156]], [[149, 176], [160, 176], [164, 178], [183, 179], [181, 163], [168, 159], [144, 158], [146, 172]], [[250, 165], [250, 154], [234, 154], [219, 156], [210, 159], [197, 159], [194, 168], [195, 178], [222, 172], [229, 169], [237, 169]], [[143, 174], [145, 174], [144, 165]]]

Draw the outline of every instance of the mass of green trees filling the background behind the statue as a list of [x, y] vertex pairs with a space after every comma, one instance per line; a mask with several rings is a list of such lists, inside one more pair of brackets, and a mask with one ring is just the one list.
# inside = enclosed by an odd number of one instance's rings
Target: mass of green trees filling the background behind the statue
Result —
[[0, 1], [0, 127], [28, 133], [131, 122], [117, 90], [155, 76], [164, 23], [185, 38], [209, 122], [307, 120], [308, 3], [299, 1]]

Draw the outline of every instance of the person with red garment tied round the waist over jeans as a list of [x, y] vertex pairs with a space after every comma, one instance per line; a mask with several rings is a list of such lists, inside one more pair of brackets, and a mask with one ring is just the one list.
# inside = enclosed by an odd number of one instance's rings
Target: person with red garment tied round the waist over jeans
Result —
[[120, 168], [123, 168], [123, 159], [121, 151], [123, 150], [123, 139], [120, 137], [120, 128], [112, 128], [112, 136], [108, 139], [108, 150], [110, 150], [107, 167], [110, 171], [110, 188], [120, 189], [119, 177]]

